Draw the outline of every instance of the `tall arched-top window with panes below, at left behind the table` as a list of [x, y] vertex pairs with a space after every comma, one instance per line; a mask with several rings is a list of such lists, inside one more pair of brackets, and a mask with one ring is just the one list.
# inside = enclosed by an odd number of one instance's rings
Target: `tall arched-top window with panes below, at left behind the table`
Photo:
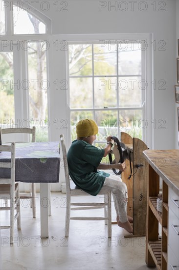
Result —
[[51, 21], [27, 1], [1, 0], [0, 27], [0, 124], [35, 125], [37, 140], [47, 141], [46, 42]]

